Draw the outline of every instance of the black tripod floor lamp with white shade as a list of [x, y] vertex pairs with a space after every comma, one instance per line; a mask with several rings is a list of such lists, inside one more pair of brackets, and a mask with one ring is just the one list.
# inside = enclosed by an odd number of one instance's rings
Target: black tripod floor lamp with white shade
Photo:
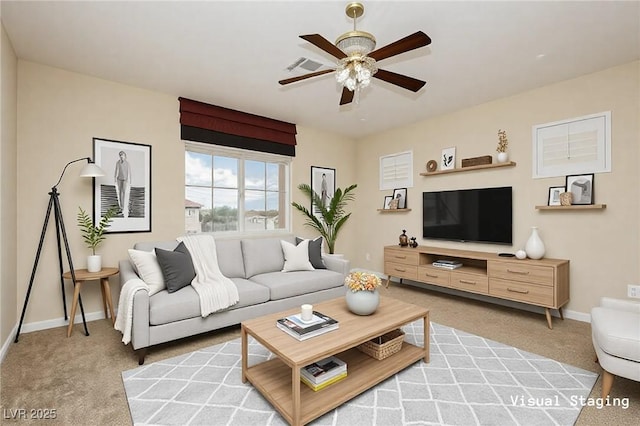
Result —
[[[38, 268], [38, 262], [40, 261], [40, 254], [42, 253], [42, 245], [44, 243], [44, 237], [47, 233], [47, 228], [49, 224], [49, 218], [51, 217], [51, 212], [53, 211], [53, 217], [55, 220], [56, 226], [56, 241], [58, 243], [58, 265], [60, 267], [60, 289], [62, 290], [62, 305], [64, 307], [64, 319], [73, 321], [74, 318], [67, 317], [67, 302], [64, 294], [64, 278], [62, 274], [64, 272], [62, 265], [62, 246], [64, 243], [65, 253], [67, 255], [67, 262], [69, 263], [69, 269], [71, 270], [71, 278], [73, 281], [73, 285], [76, 285], [76, 276], [73, 269], [73, 260], [71, 259], [71, 250], [69, 249], [69, 241], [67, 240], [67, 232], [64, 228], [64, 220], [62, 218], [62, 210], [60, 209], [60, 194], [58, 193], [58, 185], [62, 182], [62, 177], [64, 176], [64, 172], [67, 170], [73, 163], [77, 163], [78, 161], [86, 161], [87, 164], [80, 171], [81, 177], [99, 177], [104, 176], [104, 172], [100, 167], [98, 167], [89, 157], [78, 158], [77, 160], [69, 161], [62, 169], [62, 173], [60, 174], [60, 178], [58, 182], [51, 188], [51, 192], [49, 192], [49, 205], [47, 207], [47, 213], [44, 217], [44, 224], [42, 225], [42, 233], [40, 234], [40, 243], [38, 244], [38, 250], [36, 251], [36, 258], [33, 262], [33, 269], [31, 270], [31, 279], [29, 280], [29, 287], [27, 288], [27, 295], [24, 299], [24, 305], [22, 307], [22, 314], [20, 315], [20, 324], [18, 325], [18, 331], [16, 333], [15, 343], [18, 343], [18, 338], [20, 337], [20, 329], [22, 328], [22, 322], [24, 321], [24, 314], [27, 311], [27, 304], [29, 303], [29, 296], [31, 295], [31, 289], [33, 288], [33, 280], [36, 276], [36, 270]], [[62, 240], [61, 240], [62, 238]], [[89, 335], [89, 329], [87, 328], [87, 321], [84, 316], [84, 307], [82, 306], [82, 299], [79, 299], [80, 304], [80, 312], [82, 313], [82, 323], [84, 324], [85, 334]]]

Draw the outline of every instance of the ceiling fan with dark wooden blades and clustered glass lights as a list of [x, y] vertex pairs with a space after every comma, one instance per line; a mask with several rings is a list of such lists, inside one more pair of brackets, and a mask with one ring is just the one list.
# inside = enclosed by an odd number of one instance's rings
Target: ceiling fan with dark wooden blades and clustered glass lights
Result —
[[356, 19], [364, 13], [364, 6], [357, 2], [349, 3], [345, 13], [350, 18], [353, 18], [353, 31], [342, 34], [338, 37], [335, 44], [332, 44], [320, 34], [300, 36], [300, 38], [336, 57], [338, 59], [336, 68], [287, 78], [280, 80], [278, 83], [282, 85], [295, 83], [335, 71], [336, 81], [343, 86], [340, 105], [345, 105], [353, 101], [354, 94], [358, 93], [360, 89], [367, 87], [371, 82], [371, 77], [395, 84], [412, 92], [417, 92], [426, 84], [425, 81], [413, 77], [379, 69], [376, 62], [429, 45], [431, 38], [429, 38], [428, 35], [422, 31], [418, 31], [377, 50], [373, 50], [376, 46], [375, 37], [365, 31], [356, 30]]

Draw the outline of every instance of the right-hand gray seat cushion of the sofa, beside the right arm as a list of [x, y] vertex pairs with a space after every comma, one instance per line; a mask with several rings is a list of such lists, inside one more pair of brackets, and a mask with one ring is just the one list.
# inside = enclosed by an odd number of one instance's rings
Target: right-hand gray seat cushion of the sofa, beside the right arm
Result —
[[315, 291], [340, 287], [344, 276], [328, 269], [295, 272], [268, 272], [251, 280], [268, 287], [271, 300], [286, 299]]

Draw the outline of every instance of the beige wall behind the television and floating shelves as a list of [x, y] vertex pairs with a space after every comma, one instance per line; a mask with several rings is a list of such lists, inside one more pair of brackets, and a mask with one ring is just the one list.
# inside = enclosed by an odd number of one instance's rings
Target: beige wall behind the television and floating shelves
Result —
[[[524, 246], [532, 226], [538, 226], [547, 257], [571, 260], [571, 301], [567, 309], [588, 313], [601, 296], [626, 297], [627, 284], [640, 283], [640, 181], [638, 114], [640, 62], [630, 63], [532, 90], [358, 141], [360, 183], [357, 222], [360, 250], [353, 262], [383, 270], [382, 247], [397, 244], [402, 229], [421, 245], [468, 248], [490, 252], [515, 251]], [[424, 96], [428, 96], [428, 89]], [[548, 188], [563, 185], [564, 177], [532, 179], [531, 127], [535, 124], [611, 111], [612, 172], [595, 175], [595, 201], [605, 210], [541, 212]], [[498, 129], [506, 129], [514, 168], [421, 177], [425, 163], [438, 159], [443, 148], [456, 147], [457, 167], [462, 158], [495, 155]], [[389, 144], [393, 141], [393, 145]], [[413, 150], [414, 187], [402, 214], [379, 214], [384, 195], [378, 189], [379, 157]], [[494, 160], [495, 161], [495, 160]], [[513, 186], [512, 247], [487, 244], [434, 242], [421, 238], [423, 191]], [[376, 232], [364, 232], [375, 229]], [[370, 251], [369, 251], [370, 250]], [[371, 261], [365, 255], [371, 253]]]

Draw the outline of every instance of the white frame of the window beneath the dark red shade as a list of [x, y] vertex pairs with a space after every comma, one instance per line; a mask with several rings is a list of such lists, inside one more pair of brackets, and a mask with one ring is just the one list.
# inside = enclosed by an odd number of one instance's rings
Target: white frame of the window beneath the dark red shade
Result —
[[[291, 226], [292, 226], [292, 208], [291, 208], [291, 162], [292, 158], [286, 155], [278, 155], [278, 154], [270, 154], [259, 151], [250, 151], [245, 149], [238, 148], [230, 148], [221, 145], [213, 145], [208, 143], [199, 143], [192, 141], [184, 141], [185, 143], [185, 152], [198, 152], [202, 154], [212, 155], [212, 156], [221, 156], [221, 157], [231, 157], [237, 158], [240, 160], [238, 164], [238, 229], [237, 231], [215, 231], [210, 232], [211, 234], [215, 234], [216, 236], [222, 237], [267, 237], [267, 236], [280, 236], [282, 234], [290, 234]], [[264, 231], [245, 231], [244, 228], [244, 162], [245, 161], [263, 161], [268, 163], [279, 163], [285, 166], [285, 182], [284, 187], [286, 189], [285, 194], [285, 205], [286, 205], [286, 223], [283, 228], [279, 229], [270, 229]], [[186, 170], [185, 170], [185, 178], [186, 178]], [[184, 183], [185, 186], [185, 198], [186, 198], [186, 180]], [[213, 183], [212, 183], [213, 187]]]

